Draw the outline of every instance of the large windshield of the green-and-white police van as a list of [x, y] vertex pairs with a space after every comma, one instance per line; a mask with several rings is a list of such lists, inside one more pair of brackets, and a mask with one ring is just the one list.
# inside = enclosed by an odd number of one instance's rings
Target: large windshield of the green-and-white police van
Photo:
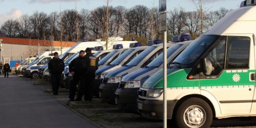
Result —
[[172, 62], [171, 67], [175, 65], [178, 67], [191, 66], [220, 37], [219, 35], [198, 37]]

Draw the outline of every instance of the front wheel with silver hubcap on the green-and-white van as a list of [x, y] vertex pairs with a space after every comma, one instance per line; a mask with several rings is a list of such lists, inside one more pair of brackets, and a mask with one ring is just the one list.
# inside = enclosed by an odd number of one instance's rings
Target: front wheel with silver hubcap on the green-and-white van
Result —
[[210, 127], [212, 110], [203, 99], [189, 98], [178, 107], [175, 114], [175, 123], [178, 127]]

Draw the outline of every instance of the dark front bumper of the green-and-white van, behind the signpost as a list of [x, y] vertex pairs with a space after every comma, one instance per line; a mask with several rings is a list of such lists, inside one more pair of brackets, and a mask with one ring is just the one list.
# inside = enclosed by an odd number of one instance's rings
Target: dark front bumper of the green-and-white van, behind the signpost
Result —
[[[178, 100], [167, 101], [167, 119], [172, 119]], [[148, 119], [163, 119], [163, 101], [138, 99], [138, 112]]]

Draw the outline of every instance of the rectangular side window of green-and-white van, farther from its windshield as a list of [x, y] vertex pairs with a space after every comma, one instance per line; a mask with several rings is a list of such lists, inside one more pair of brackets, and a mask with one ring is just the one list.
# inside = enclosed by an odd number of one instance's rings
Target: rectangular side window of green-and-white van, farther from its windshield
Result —
[[226, 69], [248, 69], [250, 38], [243, 36], [228, 37]]

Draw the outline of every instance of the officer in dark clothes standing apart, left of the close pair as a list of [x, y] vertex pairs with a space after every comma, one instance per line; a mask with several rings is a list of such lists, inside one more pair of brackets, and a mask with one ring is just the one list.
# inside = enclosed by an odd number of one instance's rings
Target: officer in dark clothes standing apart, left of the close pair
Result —
[[48, 69], [51, 74], [51, 83], [53, 95], [58, 95], [60, 86], [61, 74], [64, 71], [65, 64], [62, 59], [59, 58], [59, 54], [55, 52], [53, 59], [48, 63]]

